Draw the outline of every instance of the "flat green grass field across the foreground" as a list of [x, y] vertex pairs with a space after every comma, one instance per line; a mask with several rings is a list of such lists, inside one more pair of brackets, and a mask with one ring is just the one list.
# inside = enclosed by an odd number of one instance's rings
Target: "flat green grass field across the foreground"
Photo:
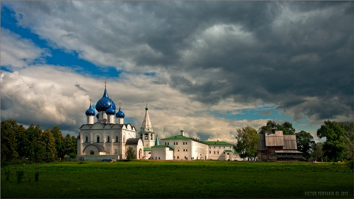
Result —
[[[24, 171], [21, 183], [17, 182], [15, 167], [10, 168], [9, 181], [1, 168], [1, 198], [353, 198], [354, 195], [353, 170], [345, 163], [55, 162], [40, 164], [38, 182], [34, 182], [35, 165], [21, 165]], [[30, 184], [28, 175], [32, 179]], [[326, 192], [334, 195], [319, 195]]]

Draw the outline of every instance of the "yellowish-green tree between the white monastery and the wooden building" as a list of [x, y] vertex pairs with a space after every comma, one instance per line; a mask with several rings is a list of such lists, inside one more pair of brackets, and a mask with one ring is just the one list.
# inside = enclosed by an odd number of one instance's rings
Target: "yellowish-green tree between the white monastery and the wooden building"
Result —
[[259, 137], [257, 130], [247, 125], [242, 129], [236, 129], [236, 151], [240, 154], [240, 158], [255, 158], [257, 157], [257, 145]]

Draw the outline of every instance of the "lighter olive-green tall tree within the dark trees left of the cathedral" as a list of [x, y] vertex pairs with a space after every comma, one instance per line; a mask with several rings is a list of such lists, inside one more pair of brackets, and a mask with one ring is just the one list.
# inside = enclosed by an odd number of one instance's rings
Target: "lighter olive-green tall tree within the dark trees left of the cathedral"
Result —
[[57, 159], [57, 151], [55, 148], [55, 139], [50, 129], [44, 130], [41, 140], [44, 145], [44, 161], [52, 162]]

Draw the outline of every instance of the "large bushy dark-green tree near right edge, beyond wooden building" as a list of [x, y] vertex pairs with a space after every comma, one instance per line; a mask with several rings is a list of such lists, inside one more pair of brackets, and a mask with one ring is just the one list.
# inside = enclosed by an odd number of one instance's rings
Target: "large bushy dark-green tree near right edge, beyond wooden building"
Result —
[[347, 132], [336, 121], [324, 121], [321, 128], [317, 129], [317, 137], [326, 137], [322, 150], [324, 155], [335, 162], [346, 157], [348, 153]]

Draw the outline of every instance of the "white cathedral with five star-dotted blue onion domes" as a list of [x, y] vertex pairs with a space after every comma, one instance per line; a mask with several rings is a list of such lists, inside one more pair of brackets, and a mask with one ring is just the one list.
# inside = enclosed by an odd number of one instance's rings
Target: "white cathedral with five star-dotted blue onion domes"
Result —
[[[125, 115], [121, 110], [120, 103], [119, 111], [115, 111], [116, 106], [108, 96], [107, 86], [105, 85], [104, 87], [103, 96], [97, 101], [95, 106], [98, 112], [97, 115], [91, 103], [89, 109], [85, 112], [86, 124], [81, 125], [79, 128], [78, 156], [119, 155], [121, 159], [125, 159], [126, 150], [132, 147], [136, 152], [136, 158], [142, 159], [143, 140], [137, 136], [134, 126], [130, 123], [124, 123]], [[150, 135], [153, 135], [152, 133]], [[153, 138], [153, 140], [155, 139]]]

